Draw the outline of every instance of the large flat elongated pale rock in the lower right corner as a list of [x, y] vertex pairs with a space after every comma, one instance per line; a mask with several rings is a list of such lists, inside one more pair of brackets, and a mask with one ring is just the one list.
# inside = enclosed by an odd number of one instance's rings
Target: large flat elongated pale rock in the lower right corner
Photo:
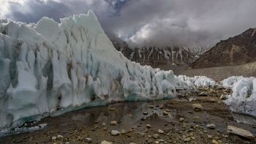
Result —
[[252, 132], [249, 132], [245, 129], [238, 128], [236, 126], [227, 126], [227, 132], [231, 134], [237, 134], [241, 137], [247, 138], [249, 140], [255, 140], [255, 137], [253, 136]]

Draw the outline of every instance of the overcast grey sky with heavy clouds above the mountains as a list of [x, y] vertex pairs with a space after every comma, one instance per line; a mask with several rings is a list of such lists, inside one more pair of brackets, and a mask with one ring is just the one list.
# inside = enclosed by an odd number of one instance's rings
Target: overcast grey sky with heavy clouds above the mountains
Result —
[[206, 47], [256, 27], [256, 0], [0, 0], [0, 18], [26, 23], [89, 9], [136, 45]]

